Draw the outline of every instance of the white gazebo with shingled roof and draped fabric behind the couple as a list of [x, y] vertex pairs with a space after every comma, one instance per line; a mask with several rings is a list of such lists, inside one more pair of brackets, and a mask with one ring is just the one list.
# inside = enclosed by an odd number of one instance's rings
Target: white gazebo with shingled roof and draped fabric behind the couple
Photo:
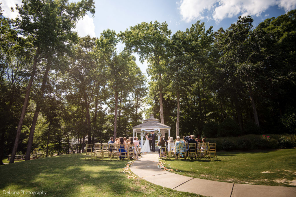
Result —
[[154, 118], [154, 115], [151, 114], [150, 118], [144, 120], [144, 123], [133, 127], [133, 137], [135, 137], [135, 133], [136, 133], [136, 137], [138, 136], [138, 133], [140, 133], [141, 135], [141, 147], [144, 144], [144, 140], [143, 140], [145, 135], [144, 133], [150, 132], [150, 131], [155, 132], [155, 134], [158, 137], [158, 140], [160, 139], [161, 133], [163, 134], [168, 133], [168, 135], [170, 136], [170, 127], [160, 123], [159, 120]]

